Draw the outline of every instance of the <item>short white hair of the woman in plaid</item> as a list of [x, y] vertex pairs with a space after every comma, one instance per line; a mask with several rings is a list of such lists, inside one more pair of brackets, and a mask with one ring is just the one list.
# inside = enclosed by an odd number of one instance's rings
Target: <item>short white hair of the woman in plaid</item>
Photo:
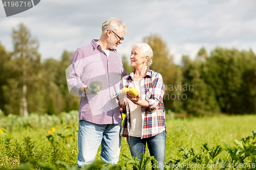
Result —
[[141, 55], [143, 57], [148, 56], [147, 66], [148, 67], [151, 66], [151, 64], [153, 63], [153, 61], [152, 61], [152, 59], [153, 59], [153, 50], [150, 47], [150, 45], [148, 45], [147, 43], [136, 43], [136, 44], [133, 44], [132, 49], [136, 46], [140, 47], [140, 52], [141, 52]]

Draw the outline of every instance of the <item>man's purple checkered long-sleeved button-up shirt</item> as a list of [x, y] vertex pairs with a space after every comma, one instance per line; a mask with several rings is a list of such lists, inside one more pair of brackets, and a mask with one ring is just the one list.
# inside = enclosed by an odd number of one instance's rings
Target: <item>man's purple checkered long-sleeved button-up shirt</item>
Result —
[[[113, 93], [119, 92], [121, 78], [127, 73], [122, 64], [122, 57], [116, 50], [110, 50], [109, 59], [93, 39], [91, 44], [77, 48], [73, 54], [68, 85], [81, 96], [79, 120], [104, 125], [118, 124], [122, 116], [117, 99], [111, 100]], [[79, 91], [82, 85], [100, 81], [103, 88], [99, 94]]]

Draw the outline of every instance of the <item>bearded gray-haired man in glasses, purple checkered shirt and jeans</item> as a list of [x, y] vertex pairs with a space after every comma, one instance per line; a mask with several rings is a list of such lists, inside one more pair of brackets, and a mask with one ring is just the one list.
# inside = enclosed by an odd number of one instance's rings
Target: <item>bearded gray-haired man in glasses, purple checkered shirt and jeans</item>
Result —
[[[73, 54], [67, 81], [81, 96], [78, 167], [94, 161], [100, 144], [101, 159], [118, 163], [122, 116], [117, 99], [111, 100], [111, 97], [119, 91], [120, 80], [127, 74], [122, 57], [116, 51], [125, 32], [126, 26], [121, 20], [110, 18], [102, 24], [99, 40], [93, 39], [91, 44], [77, 48]], [[92, 93], [92, 88], [96, 87], [98, 92]]]

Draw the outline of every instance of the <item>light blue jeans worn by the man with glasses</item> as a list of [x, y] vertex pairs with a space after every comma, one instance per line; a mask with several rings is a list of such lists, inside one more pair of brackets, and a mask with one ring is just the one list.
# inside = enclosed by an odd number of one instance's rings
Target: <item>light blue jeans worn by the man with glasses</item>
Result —
[[79, 121], [78, 156], [76, 166], [82, 167], [94, 161], [101, 144], [100, 157], [105, 162], [118, 163], [121, 147], [121, 123], [97, 125], [86, 120]]

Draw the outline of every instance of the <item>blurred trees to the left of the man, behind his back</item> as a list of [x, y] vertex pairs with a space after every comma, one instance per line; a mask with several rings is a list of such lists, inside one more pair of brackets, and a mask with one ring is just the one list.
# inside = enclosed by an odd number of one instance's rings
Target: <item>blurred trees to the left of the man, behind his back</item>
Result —
[[59, 114], [77, 110], [79, 99], [71, 96], [66, 68], [73, 52], [63, 51], [60, 61], [40, 61], [38, 41], [22, 23], [12, 31], [13, 52], [0, 44], [0, 109], [7, 114]]

